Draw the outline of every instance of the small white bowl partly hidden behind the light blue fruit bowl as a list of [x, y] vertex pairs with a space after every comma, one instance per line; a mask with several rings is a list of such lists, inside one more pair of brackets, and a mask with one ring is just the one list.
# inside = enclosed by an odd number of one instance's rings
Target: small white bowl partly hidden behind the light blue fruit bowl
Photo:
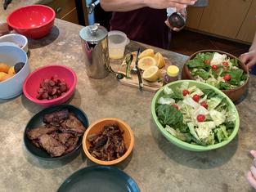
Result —
[[25, 52], [29, 51], [28, 39], [21, 34], [10, 33], [0, 37], [0, 42], [13, 42]]

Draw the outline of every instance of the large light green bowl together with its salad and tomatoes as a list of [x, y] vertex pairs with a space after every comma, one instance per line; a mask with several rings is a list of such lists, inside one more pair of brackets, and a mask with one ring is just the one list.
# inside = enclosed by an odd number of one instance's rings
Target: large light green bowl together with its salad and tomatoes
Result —
[[231, 142], [239, 129], [236, 106], [218, 88], [194, 80], [161, 87], [151, 114], [165, 138], [191, 151], [215, 150]]

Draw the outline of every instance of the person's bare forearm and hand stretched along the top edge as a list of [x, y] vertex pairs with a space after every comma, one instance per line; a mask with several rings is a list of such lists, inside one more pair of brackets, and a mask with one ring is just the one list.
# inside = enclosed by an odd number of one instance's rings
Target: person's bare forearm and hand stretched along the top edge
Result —
[[183, 9], [188, 5], [194, 5], [196, 0], [101, 0], [101, 7], [105, 11], [132, 11], [141, 7], [165, 9], [176, 7]]

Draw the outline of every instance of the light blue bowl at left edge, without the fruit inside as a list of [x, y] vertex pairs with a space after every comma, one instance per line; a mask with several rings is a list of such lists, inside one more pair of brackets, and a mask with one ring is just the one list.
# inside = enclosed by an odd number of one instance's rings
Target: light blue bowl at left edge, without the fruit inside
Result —
[[0, 62], [14, 66], [18, 62], [23, 62], [25, 65], [20, 71], [0, 82], [0, 99], [10, 99], [19, 96], [22, 93], [22, 86], [25, 78], [29, 75], [29, 61], [25, 51], [14, 46], [0, 46]]

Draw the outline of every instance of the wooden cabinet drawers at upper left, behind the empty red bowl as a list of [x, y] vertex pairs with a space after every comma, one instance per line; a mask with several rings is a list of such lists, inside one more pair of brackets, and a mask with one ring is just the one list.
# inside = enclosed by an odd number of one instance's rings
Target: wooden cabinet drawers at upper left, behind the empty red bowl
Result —
[[75, 0], [53, 0], [47, 3], [56, 12], [56, 18], [79, 24], [79, 18], [75, 7]]

